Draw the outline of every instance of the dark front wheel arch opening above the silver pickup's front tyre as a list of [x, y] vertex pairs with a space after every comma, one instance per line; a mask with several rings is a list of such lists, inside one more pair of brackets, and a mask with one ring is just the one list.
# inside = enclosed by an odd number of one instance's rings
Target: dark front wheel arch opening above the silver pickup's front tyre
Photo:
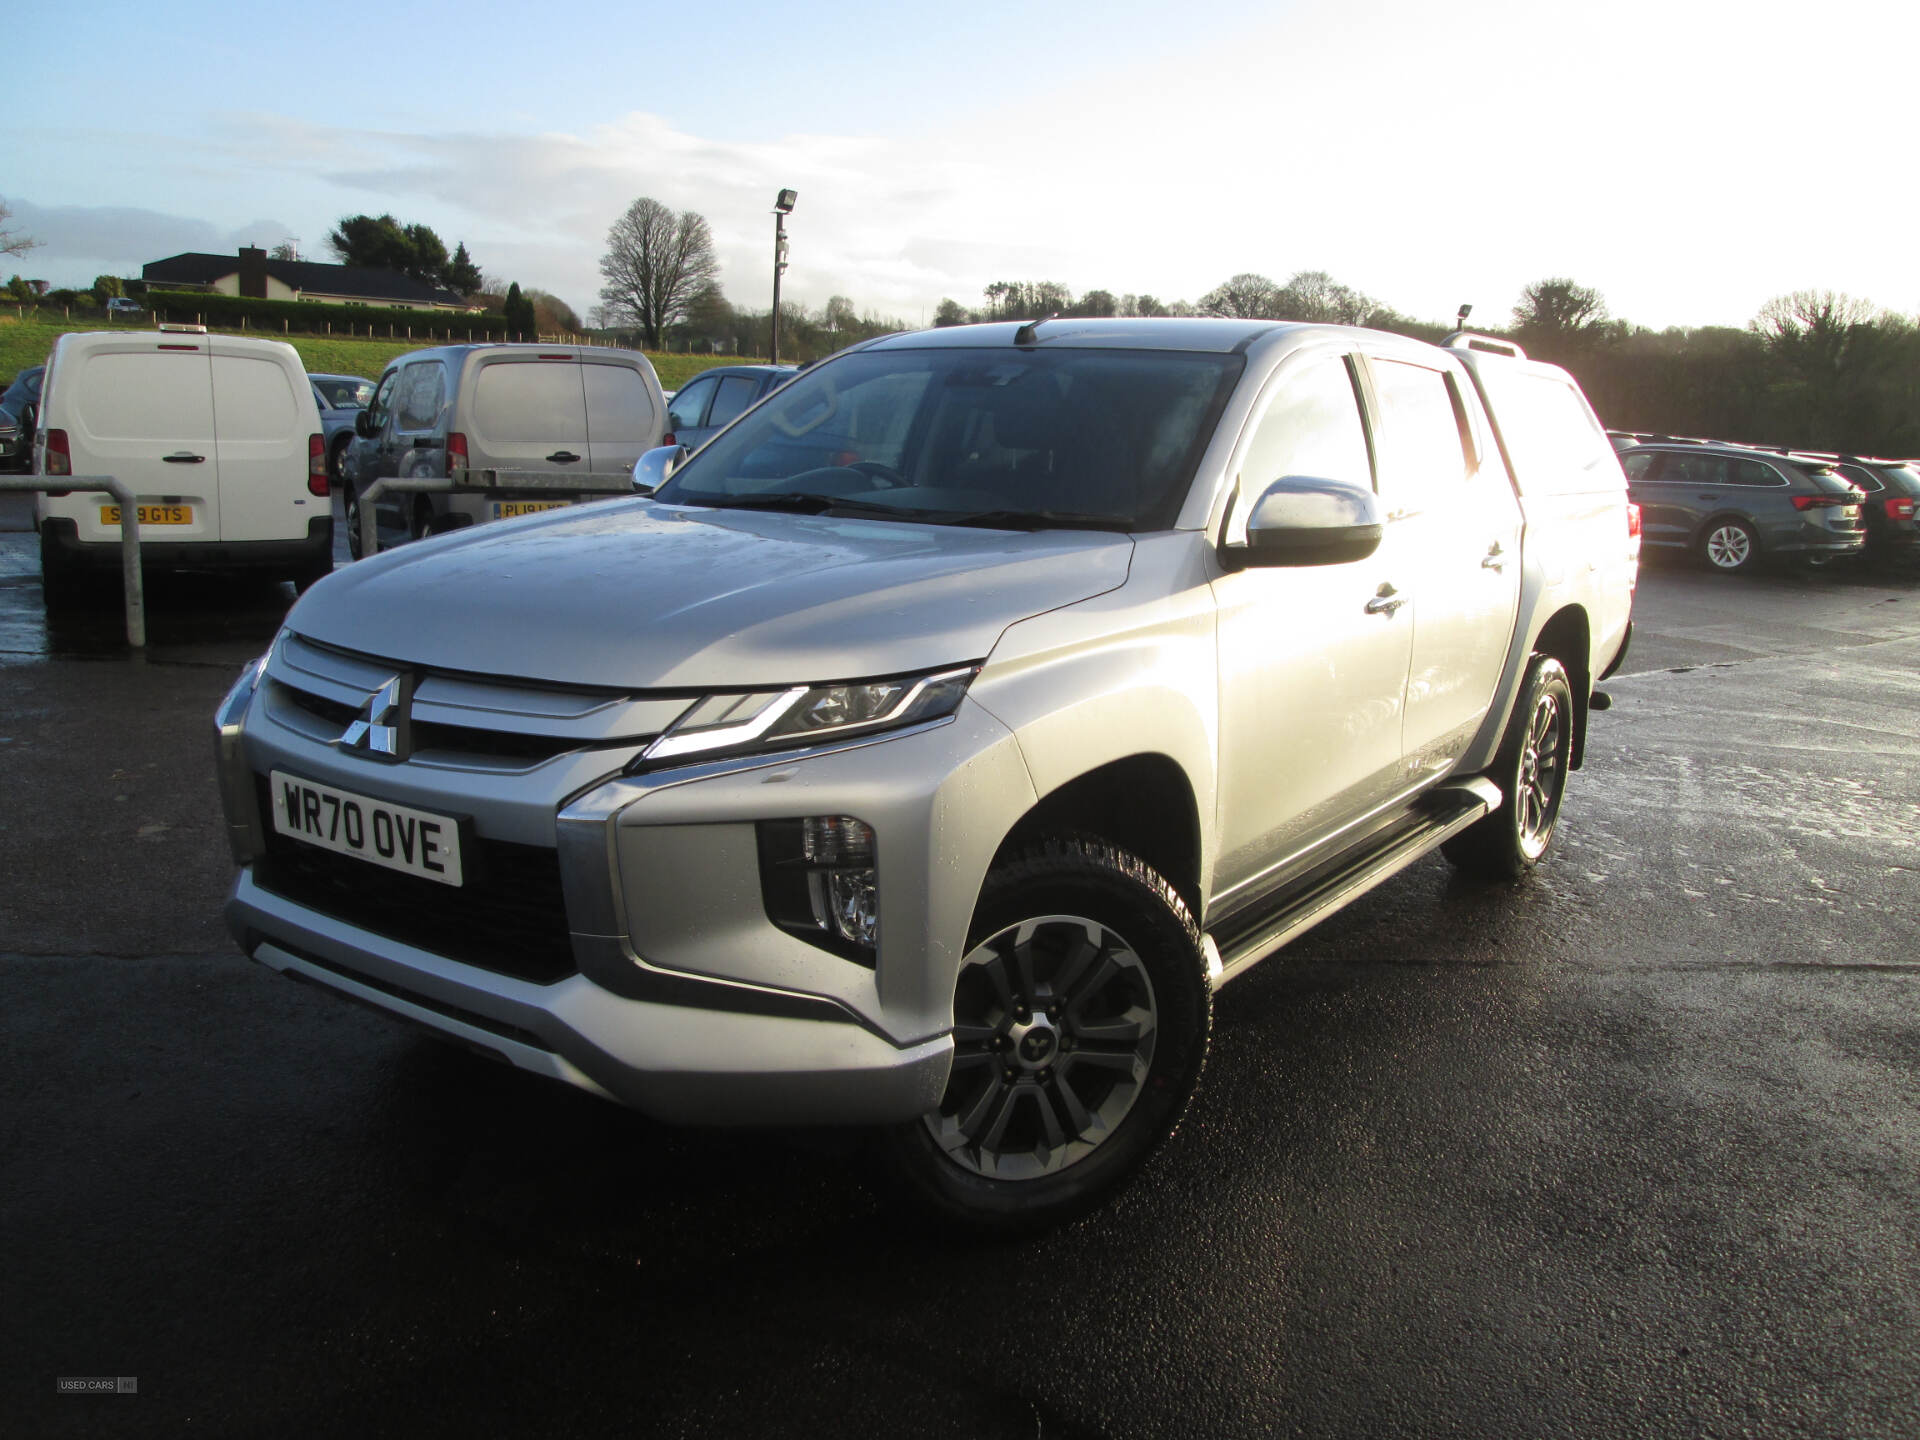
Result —
[[1129, 755], [1056, 785], [1014, 822], [993, 864], [1044, 835], [1066, 833], [1098, 835], [1131, 851], [1202, 914], [1200, 804], [1173, 756]]

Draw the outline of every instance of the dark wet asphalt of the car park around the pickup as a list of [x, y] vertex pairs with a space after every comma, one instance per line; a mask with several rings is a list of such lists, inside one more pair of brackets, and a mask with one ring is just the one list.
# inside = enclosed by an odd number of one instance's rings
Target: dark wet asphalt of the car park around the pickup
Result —
[[156, 584], [134, 660], [21, 511], [0, 1432], [1920, 1432], [1914, 576], [1649, 566], [1548, 864], [1306, 935], [1127, 1194], [979, 1244], [246, 962], [209, 714], [292, 591]]

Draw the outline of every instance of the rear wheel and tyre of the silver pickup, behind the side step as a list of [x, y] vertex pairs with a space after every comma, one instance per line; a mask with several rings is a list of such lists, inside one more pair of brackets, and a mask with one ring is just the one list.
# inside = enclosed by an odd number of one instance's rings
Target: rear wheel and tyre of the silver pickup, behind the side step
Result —
[[1572, 726], [1565, 666], [1551, 655], [1536, 655], [1486, 772], [1505, 799], [1440, 847], [1448, 860], [1480, 879], [1519, 879], [1540, 864], [1567, 795]]

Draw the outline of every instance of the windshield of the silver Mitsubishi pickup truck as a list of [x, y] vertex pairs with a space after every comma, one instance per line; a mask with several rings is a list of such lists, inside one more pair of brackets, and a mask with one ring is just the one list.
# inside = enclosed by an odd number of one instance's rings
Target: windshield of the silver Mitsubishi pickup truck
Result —
[[845, 355], [710, 440], [657, 499], [1164, 530], [1240, 369], [1238, 355], [1140, 349]]

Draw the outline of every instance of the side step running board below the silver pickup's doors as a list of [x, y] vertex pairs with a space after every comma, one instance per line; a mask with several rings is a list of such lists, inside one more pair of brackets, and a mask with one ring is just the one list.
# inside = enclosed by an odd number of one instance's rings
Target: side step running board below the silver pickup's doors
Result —
[[1500, 787], [1482, 776], [1442, 785], [1421, 799], [1407, 824], [1390, 829], [1361, 852], [1334, 856], [1288, 885], [1252, 925], [1235, 916], [1233, 937], [1225, 947], [1215, 950], [1217, 941], [1208, 935], [1208, 950], [1219, 954], [1213, 989], [1252, 970], [1380, 881], [1392, 879], [1448, 835], [1498, 810], [1500, 801]]

